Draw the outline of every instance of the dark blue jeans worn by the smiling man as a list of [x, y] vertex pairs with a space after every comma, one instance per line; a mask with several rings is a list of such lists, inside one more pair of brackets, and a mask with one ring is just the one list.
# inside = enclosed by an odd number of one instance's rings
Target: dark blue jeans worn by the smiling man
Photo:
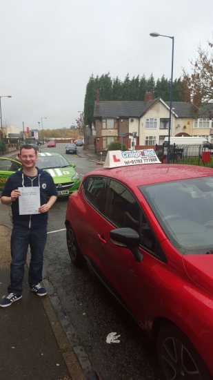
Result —
[[30, 269], [28, 283], [30, 286], [42, 281], [43, 251], [47, 241], [47, 226], [28, 229], [22, 225], [14, 225], [11, 235], [10, 285], [8, 293], [21, 296], [23, 292], [24, 265], [26, 263], [28, 245], [30, 245]]

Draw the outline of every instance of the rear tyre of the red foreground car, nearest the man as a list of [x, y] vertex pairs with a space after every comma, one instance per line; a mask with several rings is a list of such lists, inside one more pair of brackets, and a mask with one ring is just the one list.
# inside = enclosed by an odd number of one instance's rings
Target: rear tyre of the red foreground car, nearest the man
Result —
[[66, 227], [66, 237], [70, 259], [72, 261], [72, 264], [76, 265], [77, 267], [80, 267], [81, 265], [83, 265], [84, 259], [79, 249], [77, 238], [75, 237], [74, 231], [70, 223]]

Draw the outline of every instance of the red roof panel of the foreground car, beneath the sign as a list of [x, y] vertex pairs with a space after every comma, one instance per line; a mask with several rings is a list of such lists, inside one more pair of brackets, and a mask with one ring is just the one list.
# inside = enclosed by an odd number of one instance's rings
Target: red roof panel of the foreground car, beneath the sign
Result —
[[213, 170], [212, 168], [181, 164], [143, 164], [112, 169], [94, 169], [85, 174], [85, 177], [88, 175], [104, 175], [115, 178], [129, 187], [138, 187], [143, 184], [211, 176], [213, 175]]

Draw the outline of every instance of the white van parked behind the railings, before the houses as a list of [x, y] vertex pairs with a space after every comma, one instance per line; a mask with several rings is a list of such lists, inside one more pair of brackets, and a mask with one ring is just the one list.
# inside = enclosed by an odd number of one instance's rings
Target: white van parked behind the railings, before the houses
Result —
[[[200, 153], [199, 146], [203, 146], [203, 144], [210, 144], [205, 137], [170, 137], [170, 151], [171, 157], [173, 155], [173, 146], [177, 145], [175, 149], [175, 158], [177, 160], [181, 159], [184, 154], [187, 154], [187, 146], [193, 145], [190, 149], [190, 155], [196, 157]], [[168, 146], [168, 136], [165, 137], [164, 142], [164, 154], [167, 154], [167, 146]], [[184, 148], [184, 145], [185, 146]]]

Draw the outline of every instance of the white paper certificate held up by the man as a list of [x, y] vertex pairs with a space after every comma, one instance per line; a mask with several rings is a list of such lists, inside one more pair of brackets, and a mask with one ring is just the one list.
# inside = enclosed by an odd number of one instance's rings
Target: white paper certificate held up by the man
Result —
[[40, 189], [39, 186], [33, 187], [19, 187], [21, 196], [19, 196], [19, 215], [30, 215], [32, 213], [39, 213]]

